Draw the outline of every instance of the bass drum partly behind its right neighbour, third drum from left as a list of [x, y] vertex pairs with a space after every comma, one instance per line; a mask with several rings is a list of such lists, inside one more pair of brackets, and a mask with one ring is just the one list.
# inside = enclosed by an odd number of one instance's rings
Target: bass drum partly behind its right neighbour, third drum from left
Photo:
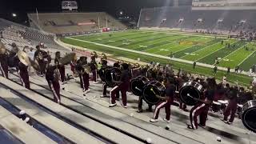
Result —
[[138, 76], [130, 81], [130, 89], [134, 95], [142, 96], [143, 88], [148, 82], [150, 82], [150, 80], [146, 77]]

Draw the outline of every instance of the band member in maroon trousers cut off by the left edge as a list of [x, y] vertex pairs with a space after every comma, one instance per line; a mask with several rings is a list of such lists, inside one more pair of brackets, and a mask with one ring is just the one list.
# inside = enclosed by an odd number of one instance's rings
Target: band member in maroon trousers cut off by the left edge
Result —
[[2, 42], [0, 42], [0, 70], [4, 78], [8, 78], [8, 54]]

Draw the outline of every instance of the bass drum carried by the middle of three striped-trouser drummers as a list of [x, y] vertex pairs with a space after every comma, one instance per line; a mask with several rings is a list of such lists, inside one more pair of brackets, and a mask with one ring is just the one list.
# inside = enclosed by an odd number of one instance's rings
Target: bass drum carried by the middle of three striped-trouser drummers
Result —
[[[154, 92], [151, 89], [153, 89]], [[150, 105], [156, 105], [161, 100], [157, 98], [155, 94], [162, 96], [164, 90], [166, 90], [166, 87], [163, 86], [162, 83], [158, 81], [148, 82], [143, 90], [143, 99]]]

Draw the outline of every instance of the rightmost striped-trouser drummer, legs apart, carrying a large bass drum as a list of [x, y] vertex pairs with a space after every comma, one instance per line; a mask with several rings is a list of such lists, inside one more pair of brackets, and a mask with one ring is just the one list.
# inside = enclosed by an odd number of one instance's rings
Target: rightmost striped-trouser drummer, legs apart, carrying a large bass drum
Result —
[[214, 100], [215, 95], [215, 87], [216, 82], [214, 78], [208, 78], [207, 79], [207, 89], [204, 92], [204, 99], [197, 99], [198, 104], [192, 107], [190, 110], [190, 123], [191, 125], [188, 125], [187, 127], [189, 129], [198, 129], [198, 116], [200, 118], [200, 124], [199, 126], [205, 127], [206, 126], [206, 119], [208, 110], [211, 106], [211, 103]]

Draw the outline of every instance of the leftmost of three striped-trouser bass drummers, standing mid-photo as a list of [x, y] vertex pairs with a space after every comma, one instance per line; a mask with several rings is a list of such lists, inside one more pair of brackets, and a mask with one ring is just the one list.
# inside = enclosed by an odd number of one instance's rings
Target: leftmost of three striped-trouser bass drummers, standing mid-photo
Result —
[[121, 65], [121, 69], [122, 69], [122, 74], [121, 74], [121, 78], [120, 81], [114, 81], [112, 79], [113, 82], [118, 83], [118, 86], [114, 86], [114, 88], [112, 88], [112, 90], [110, 90], [110, 107], [114, 107], [117, 106], [117, 103], [115, 102], [116, 100], [116, 94], [119, 92], [119, 90], [121, 91], [122, 94], [122, 106], [124, 108], [126, 108], [126, 103], [127, 103], [127, 96], [126, 96], [126, 92], [128, 91], [128, 86], [129, 86], [129, 66], [126, 63], [122, 63]]

